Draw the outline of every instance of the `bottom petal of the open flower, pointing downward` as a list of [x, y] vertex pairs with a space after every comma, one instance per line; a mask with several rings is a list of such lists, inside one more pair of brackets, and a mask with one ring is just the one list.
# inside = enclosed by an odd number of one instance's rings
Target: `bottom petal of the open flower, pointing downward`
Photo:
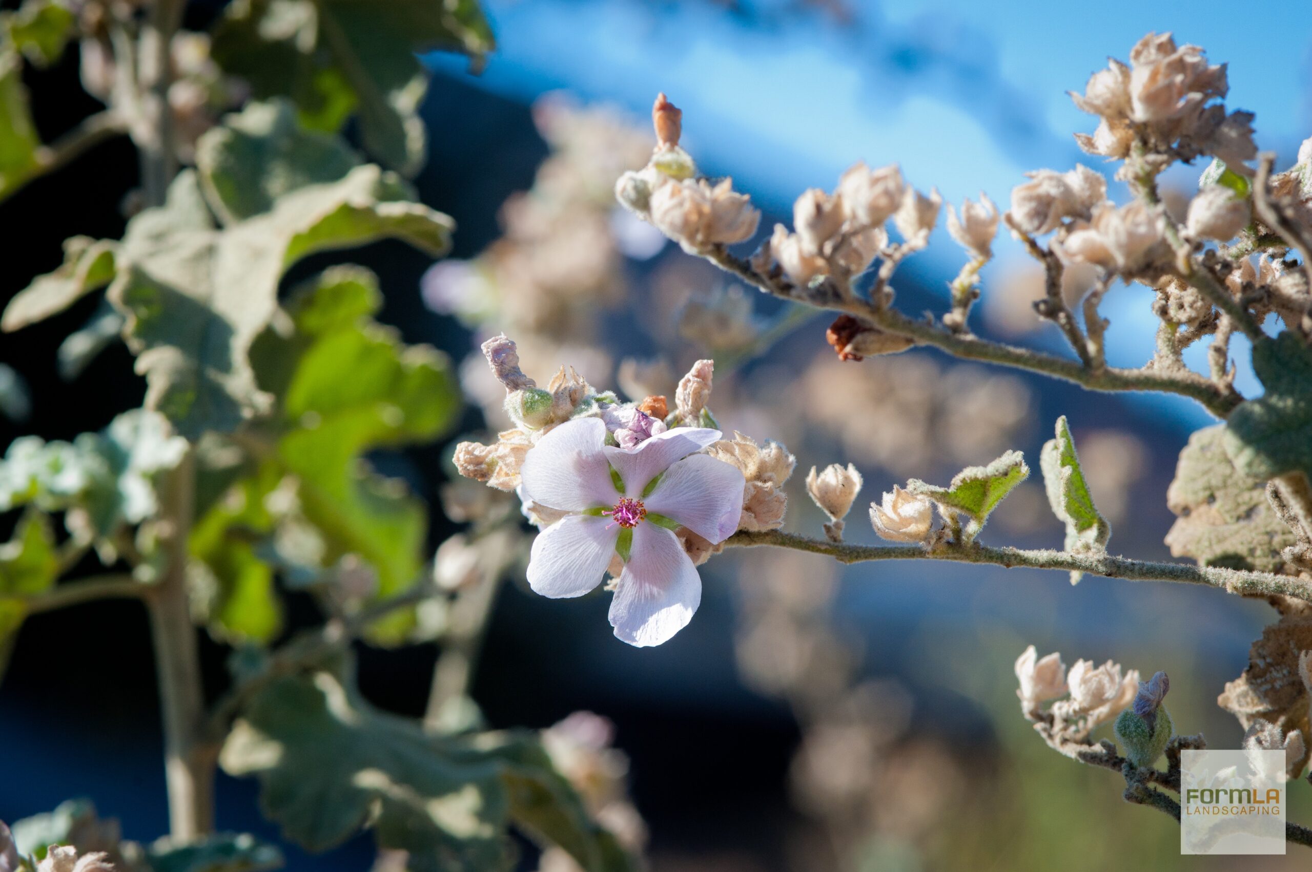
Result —
[[660, 645], [687, 625], [702, 602], [702, 580], [678, 538], [653, 523], [634, 527], [634, 549], [610, 602], [615, 636]]

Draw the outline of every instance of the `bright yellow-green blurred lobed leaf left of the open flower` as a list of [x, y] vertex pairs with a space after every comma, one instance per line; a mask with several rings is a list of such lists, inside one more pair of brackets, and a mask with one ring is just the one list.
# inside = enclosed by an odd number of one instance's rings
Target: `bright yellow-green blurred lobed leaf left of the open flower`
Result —
[[[294, 521], [323, 539], [319, 568], [354, 555], [384, 598], [422, 576], [428, 509], [363, 455], [436, 438], [454, 424], [461, 392], [443, 355], [403, 345], [369, 317], [380, 304], [369, 270], [329, 269], [293, 292], [252, 359], [277, 399], [264, 460], [290, 476]], [[257, 528], [277, 532], [272, 522]], [[399, 611], [371, 627], [371, 639], [399, 643], [412, 625], [413, 611]]]

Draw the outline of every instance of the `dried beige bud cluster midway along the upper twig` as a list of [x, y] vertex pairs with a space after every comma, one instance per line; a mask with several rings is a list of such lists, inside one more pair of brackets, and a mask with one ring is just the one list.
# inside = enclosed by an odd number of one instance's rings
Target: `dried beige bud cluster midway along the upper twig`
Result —
[[858, 163], [834, 191], [812, 188], [802, 194], [792, 206], [794, 232], [775, 224], [760, 258], [762, 264], [773, 258], [799, 286], [823, 277], [846, 282], [886, 250], [888, 219], [905, 240], [905, 250], [924, 248], [942, 203], [937, 190], [926, 195], [908, 185], [896, 164], [870, 169]]

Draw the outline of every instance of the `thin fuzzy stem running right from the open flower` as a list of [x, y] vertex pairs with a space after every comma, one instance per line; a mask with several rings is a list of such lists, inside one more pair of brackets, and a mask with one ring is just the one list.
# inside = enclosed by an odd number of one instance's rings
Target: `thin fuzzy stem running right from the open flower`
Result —
[[1242, 572], [1220, 566], [1194, 566], [1190, 564], [1131, 560], [1111, 555], [1080, 555], [1068, 551], [1046, 549], [1023, 551], [1019, 548], [996, 548], [975, 543], [959, 544], [954, 542], [942, 543], [932, 549], [922, 548], [921, 545], [854, 545], [810, 539], [779, 530], [768, 530], [765, 532], [740, 531], [733, 534], [726, 544], [794, 548], [796, 551], [828, 555], [842, 564], [867, 563], [872, 560], [950, 560], [1006, 568], [1075, 569], [1109, 578], [1174, 581], [1220, 587], [1233, 594], [1260, 597], [1282, 594], [1312, 602], [1312, 582], [1291, 576], [1277, 576], [1269, 572]]

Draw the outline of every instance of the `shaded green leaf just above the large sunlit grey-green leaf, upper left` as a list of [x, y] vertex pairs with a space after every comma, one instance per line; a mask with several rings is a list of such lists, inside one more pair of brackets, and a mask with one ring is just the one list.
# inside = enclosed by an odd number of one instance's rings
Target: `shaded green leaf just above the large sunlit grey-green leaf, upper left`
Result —
[[201, 185], [226, 224], [268, 212], [297, 189], [335, 182], [359, 163], [337, 136], [302, 127], [285, 100], [249, 104], [195, 146]]

